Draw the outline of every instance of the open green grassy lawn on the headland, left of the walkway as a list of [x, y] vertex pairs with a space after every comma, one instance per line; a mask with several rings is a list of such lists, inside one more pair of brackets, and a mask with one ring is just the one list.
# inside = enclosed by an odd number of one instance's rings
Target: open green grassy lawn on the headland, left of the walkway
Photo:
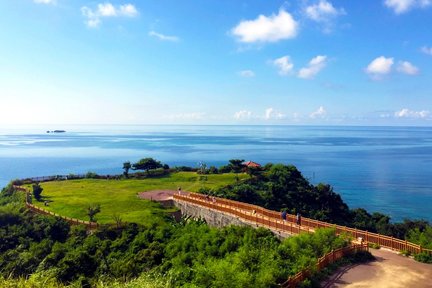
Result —
[[[177, 190], [196, 192], [201, 187], [215, 188], [234, 183], [235, 174], [206, 175], [207, 180], [200, 180], [195, 172], [178, 172], [159, 178], [143, 180], [102, 180], [82, 179], [52, 181], [41, 183], [44, 200], [50, 201], [48, 207], [34, 201], [34, 204], [60, 215], [88, 220], [87, 207], [100, 204], [101, 212], [96, 215], [99, 223], [114, 222], [113, 216], [120, 215], [122, 221], [150, 224], [158, 222], [169, 210], [158, 203], [139, 199], [137, 193], [151, 190]], [[246, 174], [238, 174], [245, 179]], [[173, 210], [172, 210], [173, 211]]]

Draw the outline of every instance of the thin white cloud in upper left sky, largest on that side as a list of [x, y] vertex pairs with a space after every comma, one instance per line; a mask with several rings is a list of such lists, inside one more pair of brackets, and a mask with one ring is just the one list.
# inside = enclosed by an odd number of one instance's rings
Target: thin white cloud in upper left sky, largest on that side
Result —
[[[48, 0], [41, 0], [48, 1]], [[124, 4], [114, 6], [109, 2], [100, 3], [97, 5], [95, 10], [83, 6], [81, 7], [81, 13], [85, 18], [85, 24], [90, 28], [99, 27], [102, 23], [102, 18], [106, 17], [136, 17], [138, 16], [138, 10], [132, 4]]]

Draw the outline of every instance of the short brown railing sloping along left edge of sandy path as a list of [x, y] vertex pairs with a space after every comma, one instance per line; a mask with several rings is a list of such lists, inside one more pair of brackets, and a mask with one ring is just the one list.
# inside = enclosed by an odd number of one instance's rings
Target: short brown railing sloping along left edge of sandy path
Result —
[[[368, 245], [366, 243], [363, 244], [353, 244], [348, 247], [342, 247], [337, 250], [332, 250], [331, 252], [327, 253], [323, 257], [319, 258], [316, 266], [313, 267], [316, 269], [316, 271], [320, 271], [329, 264], [341, 259], [342, 257], [345, 257], [350, 254], [357, 253], [359, 251], [367, 251]], [[303, 271], [300, 271], [296, 275], [289, 277], [287, 281], [282, 283], [280, 286], [283, 288], [295, 288], [297, 285], [305, 280], [307, 277], [311, 275], [313, 272], [313, 268], [308, 268]]]

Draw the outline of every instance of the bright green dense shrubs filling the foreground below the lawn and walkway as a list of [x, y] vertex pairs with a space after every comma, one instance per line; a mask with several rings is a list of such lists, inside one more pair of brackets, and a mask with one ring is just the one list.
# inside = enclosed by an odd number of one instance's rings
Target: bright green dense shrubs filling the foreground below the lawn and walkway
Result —
[[347, 244], [332, 230], [280, 241], [264, 229], [216, 229], [187, 219], [106, 226], [88, 234], [84, 227], [29, 213], [22, 197], [11, 187], [0, 196], [0, 283], [32, 275], [90, 287], [153, 275], [165, 287], [276, 287]]

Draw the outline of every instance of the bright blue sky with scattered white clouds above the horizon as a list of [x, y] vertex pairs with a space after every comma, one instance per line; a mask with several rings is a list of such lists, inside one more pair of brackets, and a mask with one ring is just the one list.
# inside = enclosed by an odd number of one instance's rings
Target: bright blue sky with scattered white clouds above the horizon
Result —
[[0, 11], [0, 125], [432, 123], [432, 0]]

